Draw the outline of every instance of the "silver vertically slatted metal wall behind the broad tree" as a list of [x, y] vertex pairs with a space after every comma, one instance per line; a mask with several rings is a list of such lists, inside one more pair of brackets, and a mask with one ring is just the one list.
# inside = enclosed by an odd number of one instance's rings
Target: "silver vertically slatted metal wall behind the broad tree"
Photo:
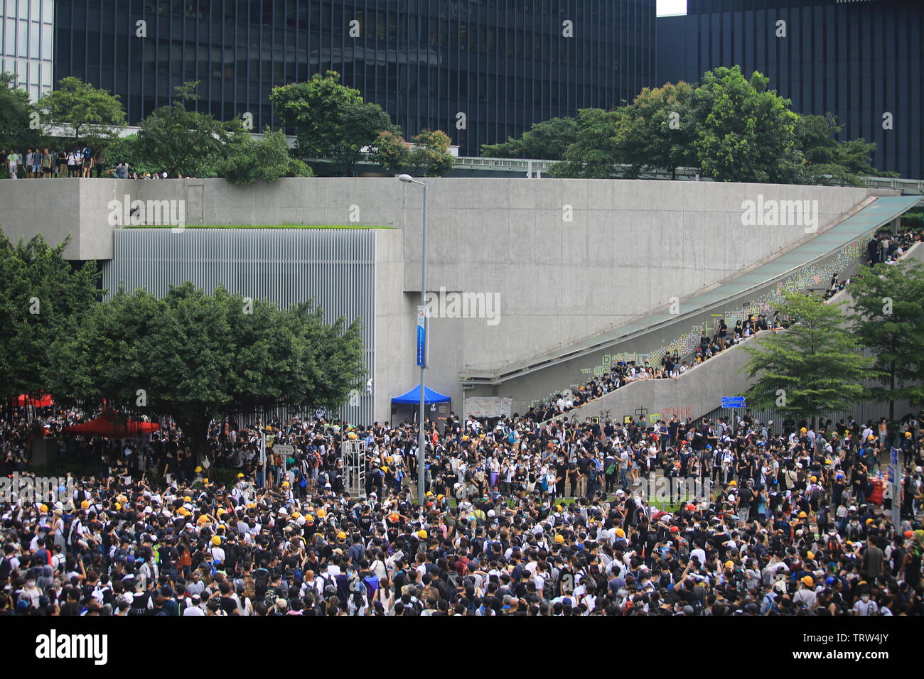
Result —
[[[106, 298], [119, 285], [163, 296], [191, 281], [287, 307], [313, 297], [324, 320], [362, 323], [366, 369], [375, 357], [375, 232], [371, 229], [116, 229], [115, 256], [103, 262]], [[359, 406], [339, 417], [372, 421], [373, 395], [359, 387]], [[297, 414], [297, 413], [292, 413]], [[277, 413], [277, 417], [283, 415]]]

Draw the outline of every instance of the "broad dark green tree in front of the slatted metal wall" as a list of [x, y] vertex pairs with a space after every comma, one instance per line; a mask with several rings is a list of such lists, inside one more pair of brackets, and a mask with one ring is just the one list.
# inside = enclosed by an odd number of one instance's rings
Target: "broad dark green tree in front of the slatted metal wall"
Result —
[[[274, 406], [335, 408], [365, 379], [359, 321], [327, 324], [312, 303], [119, 290], [53, 346], [55, 394], [124, 414], [169, 415], [201, 453], [209, 421]], [[142, 398], [143, 397], [143, 398]]]

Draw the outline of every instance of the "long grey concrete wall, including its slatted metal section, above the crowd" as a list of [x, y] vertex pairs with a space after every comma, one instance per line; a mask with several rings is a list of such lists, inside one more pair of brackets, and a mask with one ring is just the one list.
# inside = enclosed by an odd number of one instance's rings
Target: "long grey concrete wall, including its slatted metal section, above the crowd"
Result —
[[[802, 224], [744, 226], [746, 200], [815, 200], [823, 235], [871, 193], [635, 180], [427, 181], [428, 290], [444, 301], [442, 317], [432, 319], [427, 380], [452, 396], [456, 412], [464, 372], [562, 352], [816, 236]], [[182, 201], [186, 228], [174, 233], [112, 224], [113, 201], [126, 197]], [[43, 232], [56, 243], [70, 235], [66, 256], [101, 261], [109, 287], [124, 282], [164, 290], [190, 279], [280, 304], [318, 297], [332, 316], [359, 319], [371, 333], [372, 394], [362, 395], [362, 407], [381, 420], [390, 417], [390, 399], [418, 382], [421, 200], [419, 187], [395, 178], [281, 179], [249, 187], [221, 179], [2, 182], [0, 226], [14, 239]], [[196, 224], [293, 228], [200, 230]], [[389, 228], [295, 228], [303, 224]], [[451, 294], [499, 295], [497, 322], [479, 309], [468, 318], [464, 309], [453, 312]], [[537, 382], [517, 394], [516, 407], [548, 391]]]

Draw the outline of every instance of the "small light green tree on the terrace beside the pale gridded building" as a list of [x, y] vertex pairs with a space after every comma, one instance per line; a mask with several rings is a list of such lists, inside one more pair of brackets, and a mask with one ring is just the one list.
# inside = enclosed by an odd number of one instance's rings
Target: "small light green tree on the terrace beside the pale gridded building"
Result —
[[85, 142], [92, 148], [106, 146], [125, 126], [125, 110], [117, 94], [73, 76], [61, 79], [54, 91], [44, 94], [36, 111], [46, 135], [72, 144]]

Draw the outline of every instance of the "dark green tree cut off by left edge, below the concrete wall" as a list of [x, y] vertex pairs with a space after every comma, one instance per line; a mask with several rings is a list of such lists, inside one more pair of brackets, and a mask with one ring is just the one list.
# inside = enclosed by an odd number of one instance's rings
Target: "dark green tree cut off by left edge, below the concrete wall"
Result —
[[0, 390], [4, 399], [49, 391], [50, 346], [73, 332], [99, 290], [96, 262], [73, 266], [67, 240], [43, 236], [14, 245], [0, 231]]

